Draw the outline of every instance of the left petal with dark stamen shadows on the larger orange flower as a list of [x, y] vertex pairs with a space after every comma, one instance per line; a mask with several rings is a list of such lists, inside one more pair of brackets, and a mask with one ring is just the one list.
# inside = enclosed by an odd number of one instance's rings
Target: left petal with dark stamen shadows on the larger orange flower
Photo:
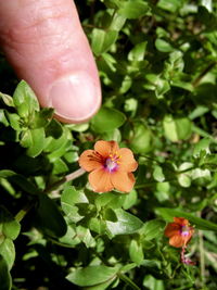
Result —
[[94, 150], [86, 150], [80, 155], [78, 163], [82, 169], [86, 172], [92, 172], [94, 169], [103, 167], [100, 159], [94, 159]]

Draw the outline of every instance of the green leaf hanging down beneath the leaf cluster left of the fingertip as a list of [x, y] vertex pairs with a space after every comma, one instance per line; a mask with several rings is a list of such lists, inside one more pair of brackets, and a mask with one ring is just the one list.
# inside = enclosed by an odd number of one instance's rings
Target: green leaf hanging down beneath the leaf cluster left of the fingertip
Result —
[[31, 146], [27, 149], [27, 154], [31, 157], [38, 156], [46, 146], [46, 134], [43, 128], [30, 130]]

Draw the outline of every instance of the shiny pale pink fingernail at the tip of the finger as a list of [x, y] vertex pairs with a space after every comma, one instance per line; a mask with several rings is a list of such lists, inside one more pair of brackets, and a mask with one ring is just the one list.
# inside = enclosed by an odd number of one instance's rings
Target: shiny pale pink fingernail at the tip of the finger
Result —
[[100, 86], [86, 72], [58, 79], [49, 92], [49, 106], [58, 117], [80, 123], [90, 118], [101, 103]]

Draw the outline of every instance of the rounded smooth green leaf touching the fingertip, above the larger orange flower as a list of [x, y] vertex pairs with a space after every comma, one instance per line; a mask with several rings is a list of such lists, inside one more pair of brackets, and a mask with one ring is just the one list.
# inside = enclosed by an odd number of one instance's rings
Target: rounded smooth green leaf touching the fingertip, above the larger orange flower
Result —
[[92, 129], [95, 133], [111, 131], [120, 127], [126, 121], [126, 116], [110, 108], [102, 108], [91, 119]]

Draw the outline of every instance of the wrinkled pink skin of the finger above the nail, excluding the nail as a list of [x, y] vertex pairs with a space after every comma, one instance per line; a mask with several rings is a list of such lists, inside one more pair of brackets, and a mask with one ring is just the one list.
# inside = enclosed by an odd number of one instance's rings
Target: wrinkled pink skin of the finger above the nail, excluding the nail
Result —
[[[0, 1], [0, 42], [20, 78], [48, 105], [50, 85], [85, 70], [100, 87], [97, 66], [72, 0]], [[78, 47], [79, 43], [79, 47]]]

